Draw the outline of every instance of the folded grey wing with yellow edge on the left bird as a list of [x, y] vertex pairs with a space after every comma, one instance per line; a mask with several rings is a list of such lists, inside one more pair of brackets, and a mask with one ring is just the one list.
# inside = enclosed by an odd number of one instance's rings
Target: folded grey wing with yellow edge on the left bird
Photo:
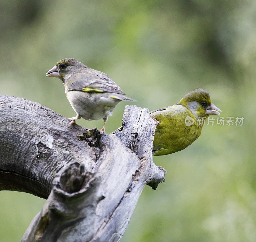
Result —
[[66, 85], [69, 91], [125, 93], [111, 78], [96, 70], [80, 71], [71, 75]]

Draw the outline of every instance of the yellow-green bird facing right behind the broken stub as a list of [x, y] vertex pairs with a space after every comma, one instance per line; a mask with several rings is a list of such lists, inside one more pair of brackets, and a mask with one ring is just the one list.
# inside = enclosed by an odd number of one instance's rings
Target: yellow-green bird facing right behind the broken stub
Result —
[[[221, 110], [212, 103], [204, 89], [189, 92], [175, 105], [150, 112], [153, 119], [159, 122], [153, 155], [168, 155], [185, 149], [200, 136], [206, 118], [220, 115], [219, 112]], [[121, 130], [122, 127], [116, 131]]]

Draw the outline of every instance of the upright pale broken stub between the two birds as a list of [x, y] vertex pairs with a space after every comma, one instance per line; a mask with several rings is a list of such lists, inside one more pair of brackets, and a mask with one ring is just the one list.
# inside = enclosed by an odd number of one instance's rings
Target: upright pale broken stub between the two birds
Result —
[[[123, 129], [116, 132], [126, 147], [138, 155], [141, 163], [140, 173], [147, 174], [147, 185], [156, 189], [160, 182], [164, 182], [164, 171], [159, 169], [152, 159], [152, 148], [157, 123], [149, 115], [148, 109], [126, 106], [122, 120]], [[143, 144], [143, 145], [142, 145]], [[140, 174], [135, 174], [135, 177]]]

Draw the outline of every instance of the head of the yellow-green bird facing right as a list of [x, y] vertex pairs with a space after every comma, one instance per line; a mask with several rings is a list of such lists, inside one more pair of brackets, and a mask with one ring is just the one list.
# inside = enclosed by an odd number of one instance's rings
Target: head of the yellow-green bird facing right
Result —
[[219, 112], [221, 112], [221, 110], [212, 103], [209, 93], [199, 88], [186, 94], [178, 104], [188, 108], [195, 117], [220, 115]]

